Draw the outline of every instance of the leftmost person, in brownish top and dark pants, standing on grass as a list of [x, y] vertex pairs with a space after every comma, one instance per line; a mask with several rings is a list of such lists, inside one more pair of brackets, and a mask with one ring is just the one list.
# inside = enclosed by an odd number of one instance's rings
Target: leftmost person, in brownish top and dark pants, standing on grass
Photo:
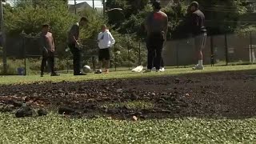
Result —
[[41, 47], [42, 47], [42, 64], [41, 64], [41, 77], [43, 77], [44, 69], [46, 67], [46, 62], [50, 65], [51, 74], [50, 76], [59, 76], [54, 71], [54, 37], [53, 34], [49, 32], [50, 26], [43, 25], [41, 33]]

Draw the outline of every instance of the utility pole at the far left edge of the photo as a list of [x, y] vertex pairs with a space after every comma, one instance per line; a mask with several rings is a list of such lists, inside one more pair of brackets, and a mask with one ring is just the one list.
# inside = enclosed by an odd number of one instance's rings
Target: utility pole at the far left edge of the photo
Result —
[[7, 72], [7, 60], [6, 60], [6, 34], [4, 30], [4, 19], [2, 10], [2, 0], [0, 0], [0, 18], [1, 18], [1, 31], [2, 31], [2, 63], [3, 63], [3, 74]]

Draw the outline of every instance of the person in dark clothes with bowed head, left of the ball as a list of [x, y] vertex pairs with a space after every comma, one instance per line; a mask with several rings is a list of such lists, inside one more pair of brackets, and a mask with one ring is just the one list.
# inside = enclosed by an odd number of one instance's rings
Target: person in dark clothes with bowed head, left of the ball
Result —
[[78, 43], [79, 38], [79, 28], [80, 26], [85, 26], [88, 22], [87, 18], [82, 17], [80, 22], [74, 23], [68, 32], [68, 46], [71, 53], [73, 54], [73, 66], [74, 66], [74, 75], [86, 75], [81, 72], [81, 50], [80, 44]]

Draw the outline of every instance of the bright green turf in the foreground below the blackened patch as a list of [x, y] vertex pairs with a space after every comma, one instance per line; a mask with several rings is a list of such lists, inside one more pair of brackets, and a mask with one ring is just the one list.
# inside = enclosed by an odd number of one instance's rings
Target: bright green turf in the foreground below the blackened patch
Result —
[[256, 119], [118, 121], [0, 114], [1, 143], [255, 143]]

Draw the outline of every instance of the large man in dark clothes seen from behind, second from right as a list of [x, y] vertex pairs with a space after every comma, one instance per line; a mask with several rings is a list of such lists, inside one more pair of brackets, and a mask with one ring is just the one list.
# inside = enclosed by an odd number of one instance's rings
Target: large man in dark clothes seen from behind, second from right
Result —
[[161, 11], [160, 2], [154, 1], [152, 6], [154, 10], [148, 14], [145, 22], [147, 32], [146, 47], [148, 50], [146, 73], [151, 72], [153, 63], [156, 71], [161, 71], [162, 47], [166, 41], [168, 30], [168, 17]]

